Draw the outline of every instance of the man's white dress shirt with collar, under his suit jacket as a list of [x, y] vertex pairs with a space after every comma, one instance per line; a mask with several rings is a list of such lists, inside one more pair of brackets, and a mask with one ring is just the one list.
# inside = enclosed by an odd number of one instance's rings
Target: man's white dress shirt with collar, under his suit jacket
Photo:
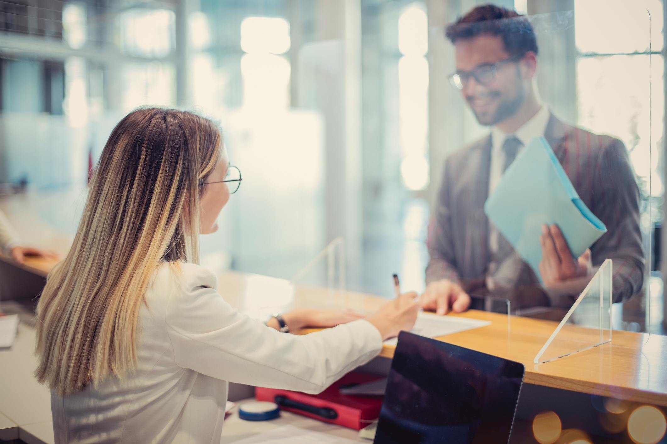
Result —
[[[534, 116], [524, 123], [514, 134], [508, 134], [494, 126], [491, 130], [491, 170], [489, 176], [489, 196], [496, 189], [496, 186], [500, 183], [500, 179], [503, 174], [503, 166], [505, 164], [505, 152], [502, 149], [502, 145], [505, 140], [510, 136], [516, 136], [523, 144], [517, 152], [517, 156], [524, 148], [528, 145], [534, 137], [544, 136], [544, 131], [546, 130], [546, 125], [549, 122], [551, 113], [549, 109], [542, 105], [540, 111], [538, 111]], [[489, 230], [489, 248], [492, 252], [498, 251], [498, 230], [490, 224]]]

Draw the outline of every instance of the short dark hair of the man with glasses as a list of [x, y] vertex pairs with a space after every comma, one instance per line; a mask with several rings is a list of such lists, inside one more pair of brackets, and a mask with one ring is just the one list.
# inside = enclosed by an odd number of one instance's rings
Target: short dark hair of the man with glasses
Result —
[[525, 15], [496, 5], [478, 6], [447, 27], [445, 35], [452, 43], [478, 35], [500, 35], [510, 56], [538, 53], [533, 27]]

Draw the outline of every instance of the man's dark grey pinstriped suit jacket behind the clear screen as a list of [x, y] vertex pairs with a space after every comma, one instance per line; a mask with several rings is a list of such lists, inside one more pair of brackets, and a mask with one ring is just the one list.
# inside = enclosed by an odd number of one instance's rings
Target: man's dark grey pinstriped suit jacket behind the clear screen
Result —
[[[553, 114], [544, 137], [580, 198], [606, 225], [607, 232], [591, 246], [592, 262], [600, 266], [607, 258], [613, 260], [613, 300], [627, 300], [642, 289], [644, 250], [640, 194], [623, 142], [564, 124]], [[426, 268], [427, 283], [443, 278], [479, 281], [489, 272], [492, 254], [484, 202], [489, 194], [491, 148], [491, 136], [487, 136], [446, 160], [428, 236], [431, 258]], [[511, 246], [500, 253], [505, 256], [500, 265], [504, 284], [516, 288], [539, 286], [530, 266]]]

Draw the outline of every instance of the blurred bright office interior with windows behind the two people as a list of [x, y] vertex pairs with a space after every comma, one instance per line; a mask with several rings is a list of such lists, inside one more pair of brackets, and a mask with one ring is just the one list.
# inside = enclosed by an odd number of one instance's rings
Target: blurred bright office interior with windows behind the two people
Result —
[[[342, 236], [348, 289], [389, 298], [398, 272], [422, 292], [444, 160], [489, 131], [447, 80], [444, 27], [478, 3], [1, 0], [0, 197], [57, 250], [113, 126], [189, 109], [220, 123], [243, 176], [202, 264], [289, 279]], [[664, 334], [662, 1], [494, 3], [532, 16], [554, 114], [628, 148], [651, 266], [614, 328]], [[324, 268], [301, 282], [326, 284]]]

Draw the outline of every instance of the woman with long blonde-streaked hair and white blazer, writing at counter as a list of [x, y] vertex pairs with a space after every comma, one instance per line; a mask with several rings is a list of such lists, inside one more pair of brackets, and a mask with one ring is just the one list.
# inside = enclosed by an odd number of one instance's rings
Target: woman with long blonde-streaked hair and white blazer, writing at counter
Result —
[[412, 328], [414, 293], [366, 319], [283, 315], [293, 330], [341, 324], [303, 336], [231, 308], [197, 265], [228, 168], [217, 126], [189, 112], [139, 109], [111, 132], [37, 308], [56, 443], [217, 443], [226, 381], [318, 393]]

